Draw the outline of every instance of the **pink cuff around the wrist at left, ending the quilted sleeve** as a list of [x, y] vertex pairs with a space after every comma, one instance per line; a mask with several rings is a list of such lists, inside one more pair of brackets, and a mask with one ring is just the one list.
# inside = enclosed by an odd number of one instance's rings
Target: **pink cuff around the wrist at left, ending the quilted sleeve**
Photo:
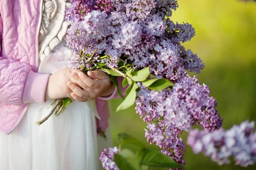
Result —
[[45, 103], [45, 90], [50, 75], [29, 71], [23, 92], [23, 103]]

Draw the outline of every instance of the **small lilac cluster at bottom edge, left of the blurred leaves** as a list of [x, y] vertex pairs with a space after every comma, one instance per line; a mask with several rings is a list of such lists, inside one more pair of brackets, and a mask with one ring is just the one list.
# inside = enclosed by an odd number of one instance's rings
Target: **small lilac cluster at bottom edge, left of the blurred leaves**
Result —
[[109, 152], [107, 149], [104, 149], [104, 152], [101, 152], [101, 156], [99, 157], [99, 159], [102, 162], [103, 168], [105, 168], [106, 170], [119, 170], [114, 161], [114, 155], [118, 152], [119, 150], [117, 149], [117, 147], [109, 148]]

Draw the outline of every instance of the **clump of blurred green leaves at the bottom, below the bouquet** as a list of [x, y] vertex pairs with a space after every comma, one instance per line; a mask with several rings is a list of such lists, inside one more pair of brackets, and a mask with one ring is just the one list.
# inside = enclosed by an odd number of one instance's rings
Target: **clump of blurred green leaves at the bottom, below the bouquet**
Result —
[[179, 167], [170, 157], [157, 150], [146, 148], [141, 141], [127, 133], [118, 134], [117, 140], [120, 152], [115, 154], [114, 160], [120, 170]]

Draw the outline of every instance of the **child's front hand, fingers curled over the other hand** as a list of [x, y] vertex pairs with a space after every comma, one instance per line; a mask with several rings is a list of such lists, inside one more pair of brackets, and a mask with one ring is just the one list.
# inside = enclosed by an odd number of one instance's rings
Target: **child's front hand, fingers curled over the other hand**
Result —
[[111, 95], [115, 89], [109, 76], [102, 71], [88, 71], [88, 76], [82, 71], [72, 72], [67, 86], [72, 93], [72, 99], [86, 102], [100, 96]]

